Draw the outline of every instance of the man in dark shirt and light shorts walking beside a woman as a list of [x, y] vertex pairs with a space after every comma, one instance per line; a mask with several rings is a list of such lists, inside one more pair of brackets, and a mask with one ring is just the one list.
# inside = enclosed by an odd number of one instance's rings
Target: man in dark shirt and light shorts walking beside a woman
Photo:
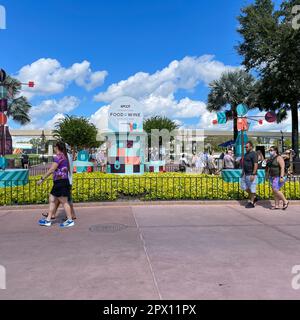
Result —
[[246, 154], [242, 169], [241, 188], [249, 194], [249, 202], [246, 208], [254, 208], [258, 200], [256, 196], [258, 159], [251, 141], [246, 144]]

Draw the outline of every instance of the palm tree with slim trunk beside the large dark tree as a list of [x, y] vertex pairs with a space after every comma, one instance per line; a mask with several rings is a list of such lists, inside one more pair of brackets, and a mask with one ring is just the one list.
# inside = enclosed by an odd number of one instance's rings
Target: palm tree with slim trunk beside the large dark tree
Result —
[[226, 110], [230, 105], [230, 116], [233, 118], [234, 140], [238, 136], [237, 111], [240, 103], [244, 103], [249, 109], [256, 108], [255, 78], [244, 70], [225, 72], [219, 80], [210, 83], [207, 110], [218, 112]]

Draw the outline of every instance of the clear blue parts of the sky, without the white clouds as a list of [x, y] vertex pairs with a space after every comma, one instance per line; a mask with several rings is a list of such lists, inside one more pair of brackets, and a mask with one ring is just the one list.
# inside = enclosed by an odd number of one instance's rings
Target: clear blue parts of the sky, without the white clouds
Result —
[[[91, 116], [108, 104], [94, 101], [96, 94], [137, 72], [153, 74], [174, 60], [207, 54], [225, 66], [239, 66], [241, 57], [234, 49], [239, 41], [236, 17], [251, 2], [0, 0], [7, 11], [7, 29], [0, 30], [1, 67], [18, 76], [22, 67], [42, 58], [55, 59], [63, 68], [87, 60], [93, 72], [108, 72], [101, 86], [88, 91], [73, 81], [62, 92], [35, 95], [30, 101], [39, 106], [45, 100], [73, 96], [80, 103], [68, 113]], [[174, 98], [206, 102], [207, 93], [207, 85], [200, 81], [192, 90], [174, 91]], [[35, 126], [53, 116], [40, 113]], [[199, 116], [180, 121], [197, 126]]]

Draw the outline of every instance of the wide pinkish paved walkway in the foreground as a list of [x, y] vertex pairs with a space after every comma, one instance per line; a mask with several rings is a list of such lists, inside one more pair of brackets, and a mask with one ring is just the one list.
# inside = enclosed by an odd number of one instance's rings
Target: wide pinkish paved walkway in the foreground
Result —
[[0, 299], [300, 299], [300, 207], [77, 208], [74, 228], [41, 209], [0, 210]]

